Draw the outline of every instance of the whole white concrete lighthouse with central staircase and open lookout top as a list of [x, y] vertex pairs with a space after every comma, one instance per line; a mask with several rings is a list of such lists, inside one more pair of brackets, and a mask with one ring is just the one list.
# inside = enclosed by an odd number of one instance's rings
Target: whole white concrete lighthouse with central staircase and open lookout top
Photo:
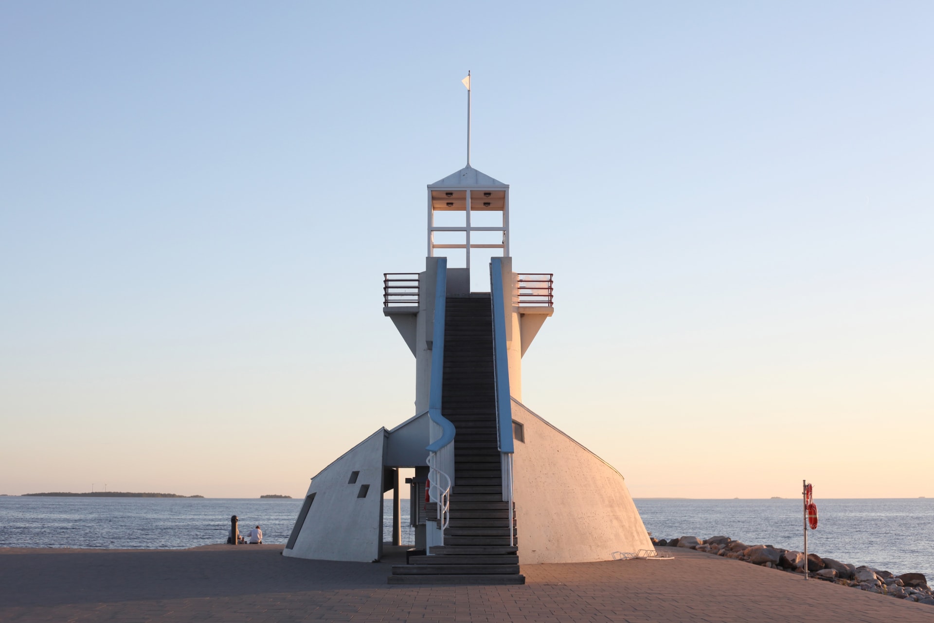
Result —
[[520, 564], [652, 547], [623, 476], [522, 402], [522, 358], [554, 314], [553, 278], [514, 271], [509, 186], [469, 158], [428, 185], [425, 269], [384, 275], [383, 314], [415, 357], [415, 414], [312, 478], [285, 556], [379, 559], [389, 490], [387, 545], [401, 545], [403, 467], [415, 468], [416, 551], [390, 584], [522, 584]]

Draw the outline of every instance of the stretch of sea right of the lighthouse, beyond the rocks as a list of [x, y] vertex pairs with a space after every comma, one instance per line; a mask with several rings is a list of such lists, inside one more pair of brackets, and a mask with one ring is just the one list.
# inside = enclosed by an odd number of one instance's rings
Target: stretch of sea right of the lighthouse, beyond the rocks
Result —
[[[803, 547], [800, 500], [636, 500], [660, 539], [722, 534], [748, 545]], [[934, 499], [820, 500], [808, 551], [892, 573], [934, 579]]]

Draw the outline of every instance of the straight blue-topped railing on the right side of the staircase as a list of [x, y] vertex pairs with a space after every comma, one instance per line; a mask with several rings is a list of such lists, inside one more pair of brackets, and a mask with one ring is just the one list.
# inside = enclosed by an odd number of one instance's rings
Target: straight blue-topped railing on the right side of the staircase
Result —
[[[506, 346], [506, 307], [502, 288], [502, 258], [490, 258], [489, 292], [493, 312], [493, 378], [496, 385], [496, 438], [502, 468], [502, 498], [509, 503], [509, 545], [515, 545], [513, 528], [513, 407], [509, 390], [509, 356]], [[512, 297], [510, 296], [510, 310]], [[511, 316], [511, 313], [510, 313]]]

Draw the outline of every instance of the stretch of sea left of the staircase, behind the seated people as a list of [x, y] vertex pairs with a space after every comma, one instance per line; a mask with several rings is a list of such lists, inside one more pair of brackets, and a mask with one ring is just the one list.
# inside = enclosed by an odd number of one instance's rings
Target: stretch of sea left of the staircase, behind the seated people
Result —
[[[227, 541], [259, 524], [263, 543], [289, 540], [302, 500], [225, 498], [21, 498], [0, 496], [0, 547], [182, 548]], [[384, 507], [391, 538], [392, 504]], [[415, 542], [403, 500], [403, 541]], [[407, 539], [407, 540], [406, 540]]]

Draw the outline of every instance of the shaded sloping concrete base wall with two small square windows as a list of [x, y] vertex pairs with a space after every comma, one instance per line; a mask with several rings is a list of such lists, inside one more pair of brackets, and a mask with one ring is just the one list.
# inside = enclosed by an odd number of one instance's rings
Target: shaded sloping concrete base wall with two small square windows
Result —
[[[303, 559], [379, 559], [383, 540], [383, 449], [386, 429], [379, 429], [335, 460], [311, 480], [305, 494], [315, 493], [295, 546], [285, 556]], [[351, 472], [360, 472], [348, 484]], [[369, 485], [358, 498], [361, 485]]]

